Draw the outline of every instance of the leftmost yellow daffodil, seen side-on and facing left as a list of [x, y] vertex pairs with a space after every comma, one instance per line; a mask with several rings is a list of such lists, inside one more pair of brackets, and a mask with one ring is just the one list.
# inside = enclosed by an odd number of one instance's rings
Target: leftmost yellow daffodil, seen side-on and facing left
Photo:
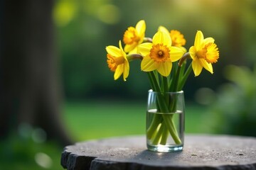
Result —
[[124, 52], [119, 41], [119, 48], [115, 46], [107, 46], [107, 65], [112, 72], [114, 72], [114, 80], [117, 80], [122, 74], [124, 81], [126, 81], [129, 75], [129, 62], [127, 60], [127, 55]]

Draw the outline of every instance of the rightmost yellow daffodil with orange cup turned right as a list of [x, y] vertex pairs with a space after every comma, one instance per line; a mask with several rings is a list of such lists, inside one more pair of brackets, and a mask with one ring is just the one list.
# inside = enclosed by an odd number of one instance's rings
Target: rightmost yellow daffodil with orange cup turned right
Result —
[[212, 63], [218, 62], [219, 51], [213, 38], [203, 38], [203, 33], [198, 30], [194, 45], [189, 53], [192, 58], [192, 68], [195, 76], [201, 74], [203, 67], [213, 74]]

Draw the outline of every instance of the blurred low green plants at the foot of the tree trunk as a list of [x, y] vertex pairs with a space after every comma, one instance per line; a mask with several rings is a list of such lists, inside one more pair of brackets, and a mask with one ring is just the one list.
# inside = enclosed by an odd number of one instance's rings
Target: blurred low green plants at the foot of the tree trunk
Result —
[[33, 134], [13, 133], [0, 141], [1, 169], [60, 169], [62, 149], [55, 142], [38, 142]]

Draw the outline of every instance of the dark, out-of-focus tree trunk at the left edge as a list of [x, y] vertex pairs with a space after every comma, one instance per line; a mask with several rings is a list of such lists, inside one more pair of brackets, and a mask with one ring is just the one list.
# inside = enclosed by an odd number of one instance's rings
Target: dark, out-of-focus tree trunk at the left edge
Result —
[[60, 120], [53, 1], [1, 1], [0, 137], [20, 123], [43, 128], [48, 139], [71, 143]]

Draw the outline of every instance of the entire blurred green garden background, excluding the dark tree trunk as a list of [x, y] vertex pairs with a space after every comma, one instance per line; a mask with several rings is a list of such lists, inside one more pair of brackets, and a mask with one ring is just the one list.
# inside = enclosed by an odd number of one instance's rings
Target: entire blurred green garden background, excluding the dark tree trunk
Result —
[[[183, 89], [186, 133], [256, 136], [255, 9], [254, 0], [55, 1], [60, 121], [68, 136], [78, 142], [144, 135], [147, 76], [135, 61], [127, 81], [114, 81], [105, 51], [141, 19], [146, 21], [146, 37], [158, 26], [180, 30], [189, 49], [196, 31], [202, 30], [220, 50], [214, 74], [192, 73]], [[64, 146], [47, 140], [43, 128], [23, 123], [0, 142], [4, 169], [62, 169]]]

